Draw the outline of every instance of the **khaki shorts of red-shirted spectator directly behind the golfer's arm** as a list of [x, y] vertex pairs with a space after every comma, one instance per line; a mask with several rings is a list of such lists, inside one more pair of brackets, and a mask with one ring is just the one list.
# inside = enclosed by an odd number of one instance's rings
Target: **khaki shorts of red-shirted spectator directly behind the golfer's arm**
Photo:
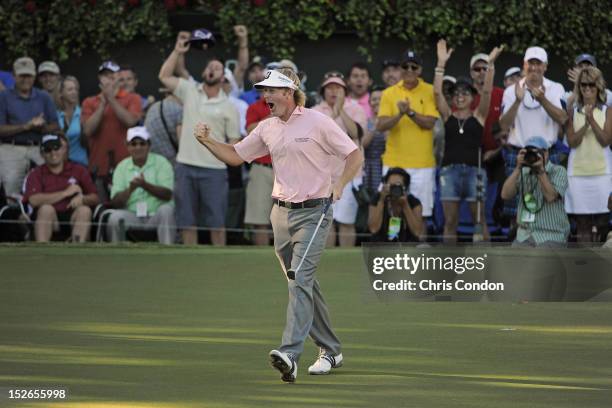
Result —
[[249, 183], [246, 191], [245, 224], [270, 224], [273, 185], [274, 171], [272, 168], [253, 163], [249, 172]]

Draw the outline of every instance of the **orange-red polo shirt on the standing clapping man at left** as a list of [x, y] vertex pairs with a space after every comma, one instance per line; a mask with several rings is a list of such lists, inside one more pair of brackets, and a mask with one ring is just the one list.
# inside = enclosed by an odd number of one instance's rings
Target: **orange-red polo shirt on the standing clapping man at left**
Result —
[[[83, 101], [81, 122], [86, 122], [98, 109], [100, 95], [90, 96]], [[142, 101], [140, 96], [119, 89], [115, 98], [121, 106], [136, 117], [142, 116]], [[102, 121], [97, 131], [89, 138], [89, 170], [97, 169], [99, 176], [106, 176], [112, 165], [117, 165], [121, 160], [129, 156], [125, 145], [127, 127], [119, 121], [117, 114], [107, 103], [102, 115]], [[112, 152], [112, 153], [110, 153]], [[110, 163], [111, 154], [114, 163]]]

